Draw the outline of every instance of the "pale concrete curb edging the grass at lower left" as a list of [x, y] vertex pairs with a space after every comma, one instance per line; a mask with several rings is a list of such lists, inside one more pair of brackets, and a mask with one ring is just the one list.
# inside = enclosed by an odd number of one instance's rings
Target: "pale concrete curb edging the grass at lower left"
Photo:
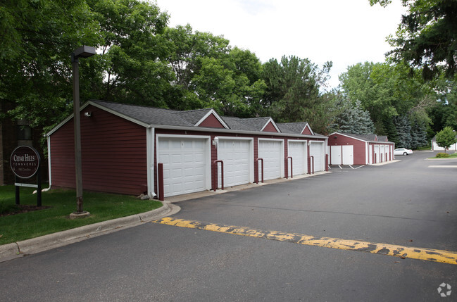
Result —
[[141, 225], [144, 222], [158, 220], [168, 215], [174, 215], [181, 208], [167, 201], [162, 202], [163, 206], [156, 210], [151, 210], [146, 213], [130, 215], [123, 218], [117, 218], [104, 222], [94, 223], [92, 225], [84, 225], [75, 229], [68, 229], [63, 232], [47, 234], [42, 237], [18, 241], [11, 244], [0, 246], [0, 263], [6, 260], [20, 258], [26, 255], [47, 251], [59, 246], [73, 244], [78, 241], [96, 237], [102, 234], [116, 232], [120, 229]]

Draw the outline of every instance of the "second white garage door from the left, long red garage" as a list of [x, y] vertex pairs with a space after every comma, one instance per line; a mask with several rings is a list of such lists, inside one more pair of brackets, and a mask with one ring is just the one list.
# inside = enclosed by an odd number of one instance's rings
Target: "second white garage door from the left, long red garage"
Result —
[[[224, 186], [236, 186], [248, 184], [250, 181], [251, 141], [244, 139], [219, 139], [218, 159], [224, 162]], [[220, 180], [220, 168], [218, 169], [218, 185]], [[253, 181], [253, 180], [252, 180]]]

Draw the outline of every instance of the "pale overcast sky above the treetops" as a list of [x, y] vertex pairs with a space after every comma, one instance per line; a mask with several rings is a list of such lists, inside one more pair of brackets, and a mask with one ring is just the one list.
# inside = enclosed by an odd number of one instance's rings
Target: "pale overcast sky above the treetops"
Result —
[[320, 66], [333, 62], [329, 87], [356, 63], [383, 62], [406, 8], [400, 0], [383, 8], [369, 0], [156, 0], [169, 26], [191, 25], [222, 35], [231, 46], [271, 58], [297, 56]]

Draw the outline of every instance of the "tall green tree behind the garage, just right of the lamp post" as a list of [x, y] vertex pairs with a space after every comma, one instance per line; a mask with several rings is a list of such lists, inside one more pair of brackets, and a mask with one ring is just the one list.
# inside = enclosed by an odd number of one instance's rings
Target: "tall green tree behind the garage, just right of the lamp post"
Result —
[[101, 54], [96, 58], [104, 75], [87, 97], [106, 101], [166, 107], [173, 73], [164, 60], [158, 35], [168, 15], [140, 0], [87, 0], [99, 24]]

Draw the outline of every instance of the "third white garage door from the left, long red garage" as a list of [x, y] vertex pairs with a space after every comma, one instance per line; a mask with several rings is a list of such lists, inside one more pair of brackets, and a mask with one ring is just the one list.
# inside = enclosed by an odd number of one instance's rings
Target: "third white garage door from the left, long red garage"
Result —
[[[258, 157], [263, 158], [263, 179], [275, 180], [284, 175], [282, 167], [283, 160], [283, 141], [258, 140]], [[261, 170], [259, 169], [259, 179], [261, 179]]]

